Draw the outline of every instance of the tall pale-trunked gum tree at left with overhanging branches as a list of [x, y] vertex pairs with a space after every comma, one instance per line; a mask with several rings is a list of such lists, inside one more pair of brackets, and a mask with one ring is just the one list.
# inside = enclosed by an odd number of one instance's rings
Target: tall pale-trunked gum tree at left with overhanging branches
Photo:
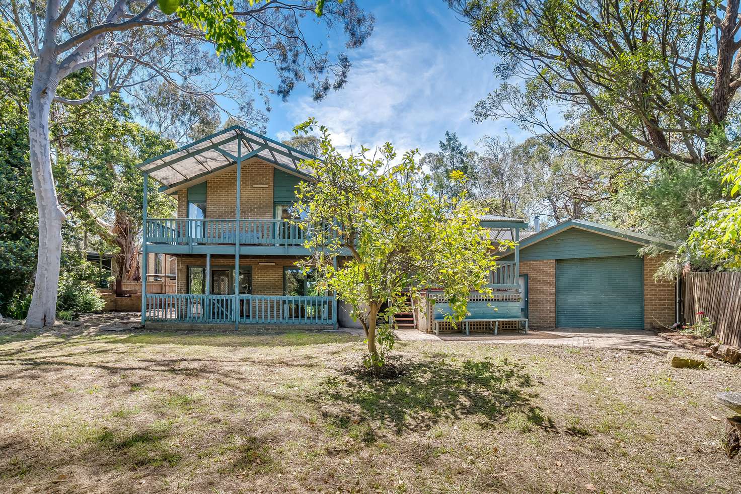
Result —
[[[253, 91], [286, 99], [305, 81], [319, 99], [345, 84], [350, 61], [345, 55], [330, 60], [304, 35], [302, 19], [316, 16], [328, 31], [342, 27], [348, 48], [360, 46], [373, 27], [373, 18], [353, 0], [5, 0], [0, 14], [14, 24], [35, 59], [28, 127], [39, 255], [30, 327], [56, 318], [66, 216], [52, 168], [53, 106], [87, 104], [153, 79], [217, 103], [218, 96], [237, 104], [251, 101]], [[242, 72], [258, 62], [275, 67], [277, 87]], [[92, 77], [89, 92], [77, 98], [60, 95], [60, 83], [82, 71]]]

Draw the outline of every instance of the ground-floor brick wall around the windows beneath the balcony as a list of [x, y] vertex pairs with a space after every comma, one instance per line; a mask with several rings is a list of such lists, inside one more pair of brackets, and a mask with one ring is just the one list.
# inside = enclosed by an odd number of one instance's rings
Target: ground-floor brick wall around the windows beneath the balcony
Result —
[[[294, 267], [299, 258], [265, 258], [240, 257], [239, 266], [252, 267], [253, 295], [282, 295], [283, 294], [283, 267]], [[274, 262], [273, 266], [261, 266], [260, 262]], [[178, 292], [187, 293], [188, 265], [206, 265], [206, 256], [182, 256], [178, 262]], [[234, 266], [233, 256], [211, 256], [211, 267]]]

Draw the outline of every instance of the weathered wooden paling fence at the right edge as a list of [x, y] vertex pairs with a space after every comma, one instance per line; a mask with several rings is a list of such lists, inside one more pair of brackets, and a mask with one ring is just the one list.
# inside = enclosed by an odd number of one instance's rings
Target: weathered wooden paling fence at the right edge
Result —
[[684, 287], [685, 321], [710, 318], [722, 343], [741, 347], [741, 273], [687, 273]]

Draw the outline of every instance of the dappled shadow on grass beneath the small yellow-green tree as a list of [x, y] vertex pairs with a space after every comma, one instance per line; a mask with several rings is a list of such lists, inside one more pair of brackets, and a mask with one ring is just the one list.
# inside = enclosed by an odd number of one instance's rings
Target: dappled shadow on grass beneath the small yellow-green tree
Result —
[[311, 399], [330, 424], [342, 429], [371, 422], [400, 434], [473, 417], [482, 427], [516, 418], [516, 427], [522, 430], [556, 430], [554, 421], [532, 403], [537, 395], [529, 389], [534, 382], [525, 367], [508, 358], [426, 359], [406, 367], [398, 378], [381, 380], [362, 378], [356, 369], [345, 370], [325, 380]]

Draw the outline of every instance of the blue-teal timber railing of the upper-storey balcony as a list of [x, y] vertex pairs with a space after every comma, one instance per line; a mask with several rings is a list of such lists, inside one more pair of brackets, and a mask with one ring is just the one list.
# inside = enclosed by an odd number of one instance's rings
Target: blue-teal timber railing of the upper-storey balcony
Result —
[[147, 219], [147, 242], [167, 245], [279, 245], [302, 247], [305, 231], [296, 221], [272, 219]]

